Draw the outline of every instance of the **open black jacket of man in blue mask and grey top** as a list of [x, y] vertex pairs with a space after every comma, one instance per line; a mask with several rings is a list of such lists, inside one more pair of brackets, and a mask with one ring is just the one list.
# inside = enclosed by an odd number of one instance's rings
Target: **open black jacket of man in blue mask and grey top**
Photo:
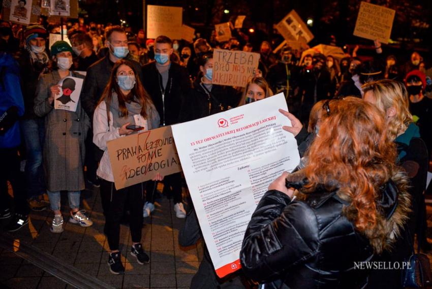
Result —
[[181, 107], [184, 106], [192, 83], [186, 68], [171, 62], [168, 70], [168, 82], [162, 100], [162, 75], [156, 68], [156, 62], [142, 67], [143, 85], [150, 94], [161, 117], [161, 125], [172, 125], [179, 122]]

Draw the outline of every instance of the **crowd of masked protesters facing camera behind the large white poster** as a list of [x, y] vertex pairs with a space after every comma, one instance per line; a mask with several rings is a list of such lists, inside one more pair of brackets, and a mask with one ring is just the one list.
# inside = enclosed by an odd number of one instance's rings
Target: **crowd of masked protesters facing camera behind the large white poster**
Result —
[[[375, 56], [364, 60], [357, 49], [351, 55], [336, 57], [322, 53], [302, 55], [302, 51], [289, 45], [273, 51], [274, 47], [266, 40], [254, 47], [247, 36], [234, 29], [233, 37], [227, 42], [219, 43], [215, 37], [210, 37], [189, 43], [166, 36], [146, 39], [143, 30], [133, 32], [130, 27], [111, 23], [85, 23], [83, 18], [68, 22], [66, 27], [64, 37], [71, 45], [57, 41], [48, 47], [48, 36], [59, 33], [59, 25], [24, 27], [0, 23], [0, 51], [3, 53], [0, 66], [5, 91], [0, 99], [0, 113], [6, 111], [18, 120], [11, 124], [0, 122], [0, 157], [12, 166], [4, 166], [0, 172], [0, 204], [3, 206], [0, 218], [13, 215], [8, 227], [12, 232], [28, 222], [30, 209], [45, 210], [49, 203], [54, 212], [51, 231], [60, 233], [64, 221], [59, 195], [60, 191], [67, 191], [69, 221], [90, 226], [91, 220], [79, 209], [80, 191], [86, 184], [100, 187], [106, 218], [104, 233], [109, 241], [109, 263], [114, 274], [124, 272], [118, 235], [119, 223], [126, 214], [131, 216], [132, 251], [139, 263], [149, 262], [141, 245], [140, 230], [142, 218], [155, 209], [158, 182], [163, 179], [162, 193], [173, 198], [176, 216], [185, 218], [187, 215], [182, 199], [185, 184], [180, 173], [158, 176], [153, 181], [118, 191], [113, 188], [106, 142], [135, 133], [129, 127], [131, 124], [153, 129], [283, 93], [292, 113], [291, 121], [302, 123], [305, 128], [305, 140], [311, 134], [314, 137], [319, 134], [319, 123], [313, 120], [314, 111], [326, 110], [330, 114], [332, 99], [354, 96], [366, 100], [366, 93], [374, 90], [376, 97], [383, 93], [381, 86], [368, 86], [368, 83], [391, 79], [403, 84], [401, 87], [407, 91], [407, 113], [418, 127], [411, 137], [423, 139], [426, 149], [421, 154], [430, 160], [432, 68], [427, 67], [425, 55], [419, 52], [407, 52], [411, 53], [410, 61], [399, 63], [378, 41], [374, 42]], [[214, 48], [260, 53], [256, 74], [245, 88], [212, 84]], [[84, 79], [77, 110], [73, 113], [53, 109], [52, 105], [60, 90], [65, 93], [66, 88], [58, 83], [67, 76]], [[6, 95], [10, 99], [6, 99]], [[382, 102], [384, 108], [378, 103], [377, 106], [387, 109], [385, 101]], [[306, 147], [310, 145], [308, 141], [312, 140], [306, 140]], [[304, 145], [301, 141], [298, 143]], [[410, 146], [409, 141], [406, 146]], [[419, 146], [422, 149], [422, 145]], [[404, 157], [399, 155], [400, 159]], [[428, 163], [422, 166], [426, 171], [427, 168]], [[416, 173], [410, 177], [415, 176]], [[14, 191], [14, 214], [8, 206], [6, 181], [10, 181]], [[422, 189], [416, 194], [421, 195]], [[422, 248], [428, 250], [424, 197], [416, 199], [415, 209], [415, 233], [421, 236]], [[196, 236], [198, 223], [189, 226], [194, 226], [187, 230], [195, 232], [193, 236]], [[191, 235], [188, 233], [187, 237]], [[213, 275], [201, 272], [200, 278]]]

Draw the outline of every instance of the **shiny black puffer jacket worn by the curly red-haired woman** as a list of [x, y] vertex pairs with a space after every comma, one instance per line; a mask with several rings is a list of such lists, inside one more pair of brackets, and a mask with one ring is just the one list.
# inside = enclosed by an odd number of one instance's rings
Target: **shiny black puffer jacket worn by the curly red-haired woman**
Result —
[[[399, 192], [389, 181], [381, 204], [377, 203], [383, 212], [382, 234], [389, 244], [408, 214], [408, 193]], [[354, 262], [369, 261], [376, 244], [355, 230], [352, 211], [346, 210], [349, 204], [337, 191], [320, 190], [295, 200], [268, 191], [245, 232], [240, 261], [246, 275], [267, 282], [266, 288], [364, 286], [368, 271], [354, 269]]]

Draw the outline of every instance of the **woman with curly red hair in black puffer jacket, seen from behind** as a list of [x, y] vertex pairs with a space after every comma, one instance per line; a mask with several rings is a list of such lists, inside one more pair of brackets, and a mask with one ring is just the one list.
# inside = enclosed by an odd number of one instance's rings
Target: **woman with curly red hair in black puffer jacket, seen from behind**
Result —
[[306, 155], [306, 166], [277, 178], [258, 204], [242, 268], [265, 288], [361, 288], [368, 275], [362, 262], [391, 248], [410, 207], [384, 115], [345, 98]]

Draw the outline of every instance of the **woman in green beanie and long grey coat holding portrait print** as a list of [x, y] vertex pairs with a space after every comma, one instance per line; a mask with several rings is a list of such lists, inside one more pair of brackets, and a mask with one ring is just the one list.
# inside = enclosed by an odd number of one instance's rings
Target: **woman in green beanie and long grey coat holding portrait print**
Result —
[[[72, 47], [65, 41], [51, 46], [54, 69], [39, 78], [35, 113], [45, 117], [45, 143], [43, 159], [47, 193], [51, 210], [54, 212], [51, 232], [63, 232], [63, 216], [60, 212], [60, 191], [68, 191], [69, 222], [83, 227], [92, 221], [79, 210], [81, 190], [85, 188], [83, 163], [85, 156], [84, 139], [90, 127], [90, 120], [78, 100], [76, 111], [54, 109], [54, 97], [62, 90], [58, 83], [68, 77], [84, 78], [72, 72]], [[64, 90], [68, 90], [65, 88]]]

